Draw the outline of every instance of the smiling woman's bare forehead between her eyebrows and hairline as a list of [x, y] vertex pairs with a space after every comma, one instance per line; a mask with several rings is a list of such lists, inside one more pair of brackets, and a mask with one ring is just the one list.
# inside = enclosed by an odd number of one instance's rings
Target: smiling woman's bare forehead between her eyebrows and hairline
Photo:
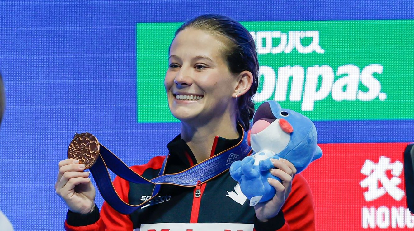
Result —
[[212, 60], [221, 59], [226, 47], [225, 39], [221, 37], [200, 29], [184, 29], [171, 43], [170, 55], [182, 58], [203, 55]]

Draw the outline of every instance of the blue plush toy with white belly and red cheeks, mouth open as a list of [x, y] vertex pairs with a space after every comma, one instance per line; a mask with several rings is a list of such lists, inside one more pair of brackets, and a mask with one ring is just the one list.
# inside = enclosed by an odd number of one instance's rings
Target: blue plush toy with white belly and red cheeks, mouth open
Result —
[[313, 122], [298, 112], [282, 109], [276, 101], [258, 107], [248, 142], [255, 153], [231, 164], [230, 175], [240, 183], [250, 206], [271, 200], [276, 194], [267, 178], [281, 180], [270, 174], [270, 158], [289, 160], [299, 173], [322, 156]]

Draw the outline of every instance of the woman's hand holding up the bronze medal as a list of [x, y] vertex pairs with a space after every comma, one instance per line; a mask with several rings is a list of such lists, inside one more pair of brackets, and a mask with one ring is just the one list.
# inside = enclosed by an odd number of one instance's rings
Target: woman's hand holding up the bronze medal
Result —
[[84, 171], [85, 165], [78, 162], [72, 159], [59, 162], [55, 190], [70, 211], [85, 214], [94, 210], [96, 191], [89, 171]]

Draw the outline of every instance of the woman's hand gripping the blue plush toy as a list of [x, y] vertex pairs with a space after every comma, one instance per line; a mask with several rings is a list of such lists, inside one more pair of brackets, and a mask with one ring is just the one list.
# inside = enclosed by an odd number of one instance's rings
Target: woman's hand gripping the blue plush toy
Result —
[[270, 169], [270, 174], [277, 176], [282, 180], [282, 183], [276, 179], [267, 179], [269, 184], [276, 189], [276, 195], [272, 200], [258, 203], [255, 205], [256, 217], [260, 221], [267, 221], [279, 213], [282, 206], [292, 190], [292, 179], [296, 174], [296, 168], [287, 160], [280, 158], [279, 160], [272, 159], [273, 169]]

